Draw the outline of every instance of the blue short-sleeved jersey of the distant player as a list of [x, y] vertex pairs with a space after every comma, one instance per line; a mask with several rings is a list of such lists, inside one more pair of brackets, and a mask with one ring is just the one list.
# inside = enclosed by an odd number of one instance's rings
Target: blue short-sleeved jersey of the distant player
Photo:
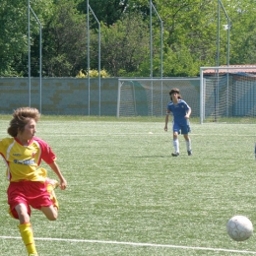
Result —
[[167, 104], [167, 109], [173, 114], [173, 121], [179, 125], [187, 125], [188, 120], [185, 118], [190, 106], [183, 99], [178, 99], [178, 103], [174, 104], [170, 101]]

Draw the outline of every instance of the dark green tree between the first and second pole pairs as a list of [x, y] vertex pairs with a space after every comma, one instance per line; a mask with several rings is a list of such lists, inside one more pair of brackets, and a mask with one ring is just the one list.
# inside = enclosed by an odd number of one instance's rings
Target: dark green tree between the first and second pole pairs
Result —
[[55, 1], [54, 15], [43, 30], [45, 76], [76, 76], [87, 59], [86, 17], [72, 1]]

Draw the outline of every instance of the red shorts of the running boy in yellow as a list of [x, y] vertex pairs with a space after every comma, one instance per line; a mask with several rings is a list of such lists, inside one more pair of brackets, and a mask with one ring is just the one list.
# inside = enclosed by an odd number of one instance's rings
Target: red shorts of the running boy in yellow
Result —
[[50, 195], [47, 192], [46, 183], [39, 181], [19, 181], [10, 182], [7, 190], [8, 204], [10, 205], [10, 214], [19, 219], [15, 207], [19, 204], [25, 204], [28, 214], [31, 216], [32, 210], [40, 210], [41, 207], [49, 207], [52, 205]]

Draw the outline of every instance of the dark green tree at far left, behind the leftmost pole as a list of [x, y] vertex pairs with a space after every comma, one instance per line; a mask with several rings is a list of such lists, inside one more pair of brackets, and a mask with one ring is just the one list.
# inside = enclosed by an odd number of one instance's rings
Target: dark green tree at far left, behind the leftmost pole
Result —
[[[31, 0], [31, 7], [42, 24], [51, 13], [51, 4], [52, 0]], [[0, 33], [0, 76], [27, 75], [28, 2], [1, 0]], [[31, 33], [32, 36], [38, 34], [38, 26], [32, 15]]]

